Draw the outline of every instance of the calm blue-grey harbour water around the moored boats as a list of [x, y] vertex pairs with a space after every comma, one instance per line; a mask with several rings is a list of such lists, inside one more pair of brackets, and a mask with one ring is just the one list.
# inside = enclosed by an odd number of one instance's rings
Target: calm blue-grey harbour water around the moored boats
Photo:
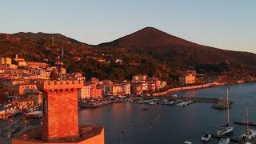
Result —
[[[225, 98], [226, 86], [203, 90], [189, 90], [178, 96], [200, 98]], [[250, 122], [256, 122], [256, 84], [230, 86], [231, 121], [245, 120], [249, 107]], [[118, 144], [121, 131], [122, 144], [179, 144], [191, 141], [196, 144], [216, 144], [217, 140], [201, 142], [205, 133], [216, 133], [217, 127], [226, 123], [226, 110], [214, 110], [209, 103], [194, 103], [184, 108], [177, 106], [148, 106], [137, 103], [116, 103], [94, 110], [81, 110], [82, 124], [97, 124], [105, 127], [106, 144]], [[142, 108], [149, 107], [148, 112]], [[154, 123], [154, 126], [152, 126]], [[256, 127], [252, 127], [255, 128]], [[234, 125], [234, 137], [238, 138], [246, 129]]]

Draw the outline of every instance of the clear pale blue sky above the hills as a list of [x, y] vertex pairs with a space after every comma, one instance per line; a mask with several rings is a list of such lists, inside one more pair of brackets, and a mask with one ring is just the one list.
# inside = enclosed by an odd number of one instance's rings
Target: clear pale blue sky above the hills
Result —
[[255, 0], [0, 2], [0, 33], [59, 33], [94, 45], [146, 26], [206, 46], [256, 53]]

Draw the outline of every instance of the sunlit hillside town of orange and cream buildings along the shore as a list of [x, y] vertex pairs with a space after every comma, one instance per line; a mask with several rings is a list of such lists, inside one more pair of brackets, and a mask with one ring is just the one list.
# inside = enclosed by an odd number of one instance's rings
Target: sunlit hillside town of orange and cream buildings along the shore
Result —
[[[50, 65], [46, 62], [29, 62], [25, 58], [0, 58], [0, 84], [2, 120], [27, 110], [42, 107], [42, 92], [38, 90], [40, 81], [83, 81], [78, 91], [80, 107], [95, 107], [110, 103], [110, 99], [164, 96], [178, 90], [191, 90], [224, 85], [222, 77], [206, 82], [195, 70], [187, 70], [179, 77], [179, 87], [168, 87], [159, 78], [149, 78], [146, 74], [134, 75], [131, 80], [111, 81], [99, 78], [85, 78], [81, 73], [67, 73], [60, 60]], [[238, 81], [237, 83], [243, 83]]]

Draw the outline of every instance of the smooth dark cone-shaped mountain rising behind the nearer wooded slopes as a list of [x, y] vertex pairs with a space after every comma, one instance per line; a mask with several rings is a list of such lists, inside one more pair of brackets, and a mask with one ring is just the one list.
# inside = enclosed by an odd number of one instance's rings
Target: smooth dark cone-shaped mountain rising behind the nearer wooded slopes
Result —
[[177, 65], [218, 64], [226, 60], [234, 64], [256, 65], [256, 54], [202, 46], [153, 27], [146, 27], [112, 42], [102, 43], [98, 47], [146, 53], [153, 58]]

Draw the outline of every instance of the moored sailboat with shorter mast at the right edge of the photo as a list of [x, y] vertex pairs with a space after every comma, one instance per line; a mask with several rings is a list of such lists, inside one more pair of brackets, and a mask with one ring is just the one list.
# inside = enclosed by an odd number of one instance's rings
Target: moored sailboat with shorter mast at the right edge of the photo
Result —
[[246, 108], [246, 133], [241, 135], [241, 141], [252, 141], [256, 137], [256, 131], [253, 129], [249, 129], [249, 114], [248, 108]]

